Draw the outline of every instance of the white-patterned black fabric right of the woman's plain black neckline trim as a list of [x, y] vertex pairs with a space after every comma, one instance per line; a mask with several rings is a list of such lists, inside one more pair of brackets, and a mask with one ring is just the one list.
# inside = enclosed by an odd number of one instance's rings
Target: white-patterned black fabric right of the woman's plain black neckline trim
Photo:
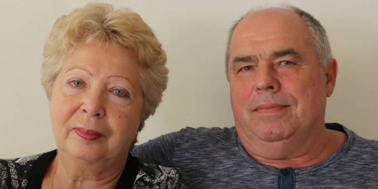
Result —
[[139, 170], [133, 188], [187, 188], [181, 181], [177, 168], [139, 162]]

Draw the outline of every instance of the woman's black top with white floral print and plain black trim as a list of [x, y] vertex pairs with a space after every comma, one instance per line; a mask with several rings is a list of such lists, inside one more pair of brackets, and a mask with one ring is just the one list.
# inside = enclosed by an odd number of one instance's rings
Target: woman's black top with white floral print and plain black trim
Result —
[[[0, 159], [0, 189], [41, 188], [44, 173], [56, 156], [56, 150], [17, 159]], [[129, 154], [115, 189], [179, 189], [178, 169], [140, 162]]]

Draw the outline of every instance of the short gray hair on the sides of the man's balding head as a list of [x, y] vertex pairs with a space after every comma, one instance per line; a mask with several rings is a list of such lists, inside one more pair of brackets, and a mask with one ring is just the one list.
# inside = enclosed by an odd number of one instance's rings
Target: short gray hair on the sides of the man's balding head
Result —
[[[308, 31], [309, 31], [309, 35], [310, 35], [310, 38], [312, 40], [311, 42], [313, 43], [314, 48], [315, 48], [315, 50], [317, 51], [317, 54], [318, 54], [320, 65], [322, 67], [327, 66], [328, 62], [333, 58], [333, 56], [332, 56], [330, 41], [328, 40], [328, 37], [327, 37], [327, 32], [324, 29], [324, 27], [322, 26], [322, 24], [316, 18], [314, 18], [312, 15], [310, 15], [309, 13], [307, 13], [307, 12], [297, 8], [297, 7], [294, 7], [294, 6], [291, 6], [291, 5], [282, 5], [282, 6], [279, 6], [279, 8], [294, 11], [298, 16], [300, 16], [306, 22], [306, 25], [307, 25], [307, 28], [308, 28]], [[261, 9], [249, 11], [247, 14], [240, 17], [239, 20], [234, 22], [234, 24], [232, 25], [232, 27], [231, 27], [231, 29], [228, 33], [228, 40], [227, 40], [227, 47], [226, 47], [226, 75], [227, 75], [227, 78], [228, 78], [228, 60], [230, 58], [230, 43], [231, 43], [231, 38], [232, 38], [232, 35], [234, 33], [234, 30], [237, 27], [237, 25], [240, 23], [241, 20], [243, 20], [248, 15], [250, 15], [250, 14], [256, 12], [256, 11], [259, 11], [259, 10], [261, 10]]]

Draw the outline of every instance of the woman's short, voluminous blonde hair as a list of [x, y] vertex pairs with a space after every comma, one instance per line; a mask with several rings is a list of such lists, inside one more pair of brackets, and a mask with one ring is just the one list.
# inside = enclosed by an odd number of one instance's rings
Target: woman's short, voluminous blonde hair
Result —
[[135, 12], [114, 10], [109, 4], [92, 3], [56, 20], [45, 43], [42, 86], [50, 99], [54, 81], [68, 53], [76, 44], [99, 40], [130, 50], [140, 65], [144, 120], [155, 113], [167, 87], [167, 57], [151, 28]]

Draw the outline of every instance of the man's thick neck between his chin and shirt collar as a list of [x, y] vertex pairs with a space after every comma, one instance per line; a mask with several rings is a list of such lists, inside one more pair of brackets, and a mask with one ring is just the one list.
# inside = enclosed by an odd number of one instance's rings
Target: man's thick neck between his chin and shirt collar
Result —
[[276, 168], [303, 168], [324, 161], [347, 140], [347, 135], [334, 130], [321, 129], [306, 137], [292, 137], [284, 141], [265, 142], [247, 138], [238, 133], [246, 152], [255, 161]]

